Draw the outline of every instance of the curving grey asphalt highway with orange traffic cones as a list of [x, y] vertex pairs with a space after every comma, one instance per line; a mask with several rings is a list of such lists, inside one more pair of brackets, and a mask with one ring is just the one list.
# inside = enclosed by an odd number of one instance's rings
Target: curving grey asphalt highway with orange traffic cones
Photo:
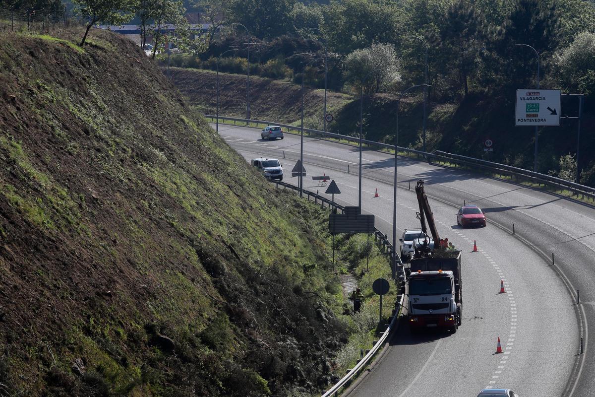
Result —
[[[297, 185], [290, 171], [299, 158], [299, 136], [286, 134], [269, 142], [260, 139], [260, 130], [221, 124], [220, 135], [247, 160], [278, 158], [284, 181]], [[326, 174], [341, 190], [336, 201], [357, 205], [358, 148], [306, 137], [303, 148], [304, 187], [324, 195], [325, 187], [316, 186], [311, 176]], [[378, 229], [390, 237], [394, 157], [364, 151], [363, 158], [362, 212], [374, 214]], [[419, 227], [413, 189], [424, 179], [440, 235], [463, 251], [463, 323], [455, 335], [410, 335], [400, 327], [348, 395], [475, 396], [484, 387], [510, 388], [525, 397], [595, 395], [594, 362], [588, 354], [595, 290], [589, 277], [595, 262], [593, 208], [409, 158], [399, 157], [397, 167], [397, 233]], [[487, 227], [456, 226], [455, 214], [464, 202], [486, 212]], [[479, 252], [471, 252], [474, 240]], [[504, 294], [499, 293], [500, 280]], [[503, 354], [494, 354], [497, 337]]]

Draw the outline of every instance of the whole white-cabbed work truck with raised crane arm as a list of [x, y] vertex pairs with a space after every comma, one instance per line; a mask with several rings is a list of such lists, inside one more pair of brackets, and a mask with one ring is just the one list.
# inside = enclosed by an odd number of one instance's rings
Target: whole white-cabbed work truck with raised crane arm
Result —
[[427, 234], [427, 219], [434, 248], [426, 248], [425, 251], [416, 249], [409, 264], [409, 277], [405, 285], [409, 327], [412, 330], [449, 329], [454, 333], [461, 325], [463, 311], [461, 251], [448, 251], [440, 246], [440, 235], [425, 195], [424, 181], [418, 181], [415, 192], [421, 229]]

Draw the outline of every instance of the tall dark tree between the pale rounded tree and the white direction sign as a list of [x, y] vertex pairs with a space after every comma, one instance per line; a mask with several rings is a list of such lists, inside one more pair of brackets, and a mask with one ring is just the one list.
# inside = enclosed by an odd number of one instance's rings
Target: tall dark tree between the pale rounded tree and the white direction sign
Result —
[[[453, 3], [440, 25], [440, 43], [444, 48], [445, 67], [456, 65], [459, 87], [469, 93], [468, 77], [483, 44], [483, 17], [467, 0]], [[443, 69], [448, 73], [448, 69]]]

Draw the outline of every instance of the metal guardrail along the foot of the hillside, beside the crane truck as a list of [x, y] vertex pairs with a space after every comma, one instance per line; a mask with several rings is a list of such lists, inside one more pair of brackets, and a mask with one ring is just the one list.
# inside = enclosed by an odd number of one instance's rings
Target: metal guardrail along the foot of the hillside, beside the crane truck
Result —
[[[275, 125], [279, 125], [279, 124], [275, 124]], [[287, 187], [289, 189], [299, 191], [299, 187], [290, 185], [289, 183], [286, 183], [286, 182], [274, 181], [274, 183], [277, 185], [277, 187], [279, 187], [279, 185], [281, 185], [283, 187]], [[303, 194], [305, 194], [307, 196], [308, 200], [311, 200], [311, 198], [314, 198], [314, 201], [316, 203], [318, 203], [318, 200], [320, 200], [322, 207], [324, 207], [324, 204], [327, 204], [328, 208], [333, 207], [333, 208], [336, 208], [337, 210], [340, 210], [341, 212], [343, 212], [345, 210], [345, 208], [342, 205], [335, 204], [334, 202], [330, 201], [329, 199], [327, 199], [325, 197], [322, 197], [321, 195], [318, 195], [317, 193], [310, 192], [309, 190], [306, 190], [306, 189], [303, 189], [302, 191], [303, 191]], [[397, 254], [396, 254], [396, 251], [394, 251], [393, 245], [388, 240], [387, 236], [384, 235], [382, 232], [380, 232], [380, 230], [374, 228], [374, 240], [378, 241], [378, 246], [381, 248], [381, 252], [388, 255], [389, 259], [391, 260], [391, 263], [392, 263], [393, 255], [397, 255]], [[397, 261], [399, 262], [399, 265], [397, 266], [397, 279], [394, 281], [397, 283], [397, 288], [399, 288], [399, 291], [400, 291], [400, 283], [405, 281], [406, 274], [405, 274], [405, 271], [403, 271], [403, 264], [402, 264], [398, 255], [397, 255]], [[360, 374], [362, 372], [362, 370], [364, 370], [364, 368], [367, 367], [367, 365], [372, 360], [372, 358], [374, 358], [374, 356], [377, 354], [377, 352], [380, 350], [380, 348], [384, 345], [384, 342], [386, 342], [390, 333], [394, 329], [396, 329], [396, 326], [398, 325], [398, 321], [399, 321], [399, 315], [400, 315], [400, 312], [403, 307], [404, 300], [405, 300], [405, 295], [402, 295], [402, 294], [397, 295], [397, 302], [396, 302], [397, 308], [393, 310], [392, 319], [391, 319], [389, 325], [387, 326], [386, 330], [381, 332], [380, 338], [375, 341], [374, 346], [372, 346], [371, 349], [367, 350], [367, 353], [364, 355], [364, 357], [361, 360], [359, 360], [358, 364], [356, 364], [355, 367], [350, 369], [344, 377], [337, 380], [337, 382], [333, 385], [333, 387], [331, 387], [330, 389], [328, 389], [327, 391], [325, 391], [322, 394], [322, 397], [331, 397], [331, 396], [337, 397], [339, 395], [339, 390], [341, 390], [342, 387], [349, 386], [353, 377]]]

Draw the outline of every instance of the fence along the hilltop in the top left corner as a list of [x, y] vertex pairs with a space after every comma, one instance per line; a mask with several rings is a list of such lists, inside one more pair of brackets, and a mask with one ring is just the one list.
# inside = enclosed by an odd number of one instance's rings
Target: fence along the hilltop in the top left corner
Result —
[[0, 32], [48, 32], [70, 24], [64, 8], [0, 8]]

